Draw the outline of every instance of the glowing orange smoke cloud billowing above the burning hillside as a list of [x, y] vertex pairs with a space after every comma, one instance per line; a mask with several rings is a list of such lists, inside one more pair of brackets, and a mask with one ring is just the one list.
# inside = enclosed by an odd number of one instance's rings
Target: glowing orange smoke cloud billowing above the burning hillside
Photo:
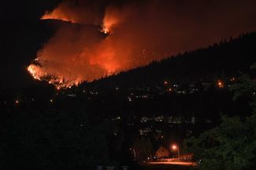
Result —
[[[65, 0], [45, 13], [43, 20], [70, 23], [63, 24], [38, 52], [39, 64], [28, 67], [34, 78], [69, 87], [256, 28], [248, 20], [255, 15], [250, 4], [234, 2], [231, 7], [216, 2], [201, 8], [198, 4], [204, 1], [184, 6], [167, 0], [139, 0], [102, 7], [99, 2], [107, 1]], [[239, 13], [241, 10], [251, 13]]]

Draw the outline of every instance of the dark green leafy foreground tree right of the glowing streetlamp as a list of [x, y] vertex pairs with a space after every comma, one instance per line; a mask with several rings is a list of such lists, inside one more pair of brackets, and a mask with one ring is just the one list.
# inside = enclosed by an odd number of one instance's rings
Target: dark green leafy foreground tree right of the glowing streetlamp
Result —
[[221, 125], [184, 141], [185, 149], [195, 154], [198, 169], [256, 168], [256, 82], [249, 75], [242, 74], [240, 82], [231, 89], [234, 99], [241, 96], [250, 99], [252, 114], [247, 118], [222, 116]]

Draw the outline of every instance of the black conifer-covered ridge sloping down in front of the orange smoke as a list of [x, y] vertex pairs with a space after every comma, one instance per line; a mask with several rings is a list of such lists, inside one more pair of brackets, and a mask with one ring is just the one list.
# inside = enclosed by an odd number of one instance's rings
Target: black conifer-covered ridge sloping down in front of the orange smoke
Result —
[[154, 61], [147, 66], [93, 81], [92, 87], [112, 88], [155, 85], [164, 80], [213, 81], [217, 78], [236, 76], [250, 71], [250, 65], [256, 62], [256, 32], [241, 34], [239, 38], [223, 39], [206, 48], [170, 56]]

